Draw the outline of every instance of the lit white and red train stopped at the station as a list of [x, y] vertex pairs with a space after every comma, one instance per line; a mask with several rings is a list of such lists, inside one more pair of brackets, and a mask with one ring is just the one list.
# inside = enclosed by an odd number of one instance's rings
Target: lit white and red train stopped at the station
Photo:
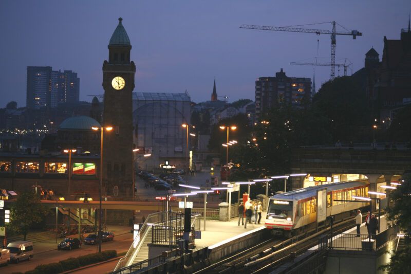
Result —
[[[368, 189], [369, 183], [366, 181], [348, 181], [276, 194], [269, 199], [265, 227], [272, 229], [273, 234], [291, 236], [315, 228], [319, 220], [317, 213], [322, 221], [326, 217], [342, 216], [344, 213], [349, 216], [353, 210], [368, 206], [369, 203], [337, 200], [351, 200], [351, 196], [367, 197]], [[321, 195], [319, 192], [322, 192]]]

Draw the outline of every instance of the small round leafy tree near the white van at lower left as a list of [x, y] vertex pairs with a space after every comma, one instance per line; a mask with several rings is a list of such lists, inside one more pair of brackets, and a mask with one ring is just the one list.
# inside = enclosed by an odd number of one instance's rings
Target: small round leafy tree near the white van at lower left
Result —
[[40, 196], [34, 192], [23, 192], [11, 206], [10, 229], [17, 234], [23, 234], [26, 240], [27, 232], [33, 224], [40, 223], [48, 214], [47, 208], [41, 204]]

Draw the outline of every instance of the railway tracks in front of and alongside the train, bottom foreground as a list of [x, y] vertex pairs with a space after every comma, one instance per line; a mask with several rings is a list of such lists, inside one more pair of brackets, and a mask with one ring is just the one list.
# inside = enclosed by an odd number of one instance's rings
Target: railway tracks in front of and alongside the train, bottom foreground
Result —
[[[353, 218], [348, 218], [334, 225], [334, 232], [343, 232], [353, 226]], [[253, 247], [241, 250], [228, 258], [211, 264], [195, 273], [267, 273], [276, 266], [304, 253], [318, 243], [318, 237], [328, 233], [330, 228], [310, 234], [301, 234], [293, 238], [269, 239]]]

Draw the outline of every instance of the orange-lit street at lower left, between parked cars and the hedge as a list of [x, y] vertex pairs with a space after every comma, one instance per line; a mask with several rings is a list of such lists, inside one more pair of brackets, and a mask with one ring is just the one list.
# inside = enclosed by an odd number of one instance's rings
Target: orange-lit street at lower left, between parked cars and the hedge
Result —
[[[110, 250], [115, 249], [118, 253], [127, 251], [130, 247], [130, 243], [133, 240], [132, 233], [116, 234], [114, 241], [103, 243], [101, 249]], [[49, 264], [59, 262], [71, 257], [78, 257], [80, 255], [86, 255], [90, 253], [95, 253], [97, 251], [97, 245], [82, 245], [80, 249], [73, 250], [57, 250], [57, 244], [55, 240], [50, 240], [42, 243], [34, 243], [34, 258], [31, 261], [24, 261], [19, 264], [9, 264], [8, 266], [0, 266], [0, 273], [7, 274], [12, 272], [25, 272], [27, 270], [34, 269], [40, 264]], [[36, 253], [36, 246], [39, 246], [38, 250], [44, 250], [48, 247], [46, 251], [38, 251]], [[104, 264], [104, 265], [108, 265]], [[115, 265], [114, 265], [115, 266]], [[114, 266], [111, 268], [114, 269]], [[108, 269], [110, 270], [110, 269]], [[108, 271], [107, 270], [107, 271]], [[88, 270], [89, 273], [90, 270]]]

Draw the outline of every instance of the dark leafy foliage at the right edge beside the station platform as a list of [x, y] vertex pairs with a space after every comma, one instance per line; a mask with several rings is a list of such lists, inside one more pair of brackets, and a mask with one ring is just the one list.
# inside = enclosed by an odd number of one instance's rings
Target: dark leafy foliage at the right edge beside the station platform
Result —
[[[391, 252], [390, 262], [382, 265], [380, 269], [391, 274], [411, 273], [411, 247], [409, 246], [409, 233], [411, 232], [411, 173], [404, 174], [402, 185], [390, 194], [394, 206], [387, 209], [388, 220], [399, 225], [400, 229], [408, 233], [405, 238], [406, 248]], [[407, 270], [408, 269], [408, 270]]]

